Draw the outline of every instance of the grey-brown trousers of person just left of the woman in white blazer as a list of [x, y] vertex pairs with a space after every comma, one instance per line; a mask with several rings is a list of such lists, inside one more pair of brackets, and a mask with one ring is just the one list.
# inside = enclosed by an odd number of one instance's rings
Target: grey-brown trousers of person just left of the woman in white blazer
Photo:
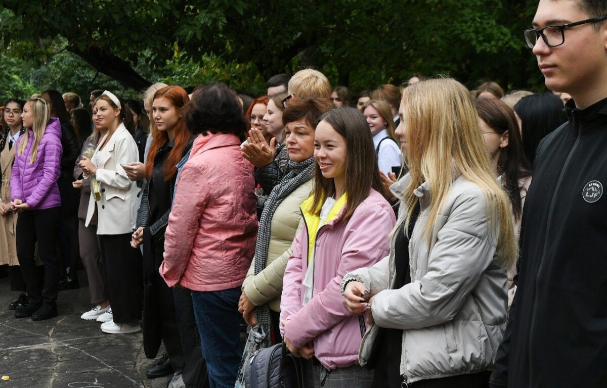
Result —
[[78, 241], [80, 258], [86, 276], [89, 278], [90, 303], [98, 304], [107, 300], [107, 286], [103, 279], [103, 258], [99, 250], [97, 225], [84, 226], [84, 219], [78, 219]]

